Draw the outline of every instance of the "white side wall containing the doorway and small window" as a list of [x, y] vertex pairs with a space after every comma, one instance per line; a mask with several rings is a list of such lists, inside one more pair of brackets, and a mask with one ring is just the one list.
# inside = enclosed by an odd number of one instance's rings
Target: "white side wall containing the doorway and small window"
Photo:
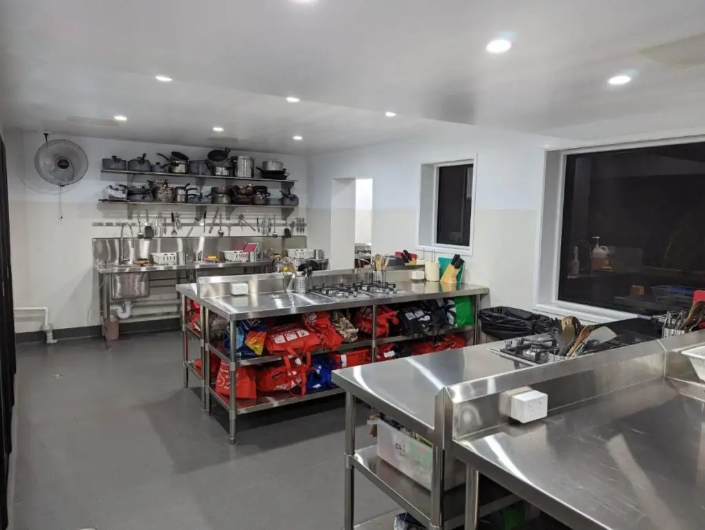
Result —
[[[449, 127], [429, 137], [309, 158], [309, 246], [331, 252], [333, 179], [372, 177], [372, 252], [417, 244], [421, 166], [477, 160], [477, 212], [464, 281], [489, 286], [492, 305], [531, 308], [545, 151], [552, 139]], [[430, 258], [431, 255], [427, 254]], [[331, 256], [332, 258], [332, 256]]]

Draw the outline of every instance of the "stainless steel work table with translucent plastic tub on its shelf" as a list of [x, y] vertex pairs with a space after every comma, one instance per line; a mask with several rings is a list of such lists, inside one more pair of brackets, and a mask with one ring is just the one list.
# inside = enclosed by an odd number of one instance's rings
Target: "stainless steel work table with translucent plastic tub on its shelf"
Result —
[[[434, 419], [436, 394], [445, 386], [463, 381], [531, 369], [519, 360], [504, 358], [488, 350], [488, 346], [498, 347], [500, 344], [479, 344], [333, 372], [333, 381], [346, 391], [345, 530], [374, 527], [372, 522], [354, 526], [355, 470], [429, 529], [455, 528], [462, 524], [465, 507], [462, 486], [446, 492], [441, 484], [433, 484], [428, 491], [381, 461], [376, 446], [355, 448], [355, 398], [427, 438], [434, 448], [434, 467], [443, 467], [443, 426], [437, 426]], [[439, 474], [434, 473], [434, 477], [437, 476]], [[494, 484], [486, 486], [480, 498], [482, 515], [517, 500]]]

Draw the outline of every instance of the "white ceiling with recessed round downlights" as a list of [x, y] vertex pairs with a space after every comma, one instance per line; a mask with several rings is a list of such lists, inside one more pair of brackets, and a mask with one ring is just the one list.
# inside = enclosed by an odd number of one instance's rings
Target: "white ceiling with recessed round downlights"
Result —
[[[283, 153], [444, 122], [575, 139], [701, 126], [705, 51], [682, 68], [644, 50], [705, 32], [705, 3], [647, 3], [0, 0], [0, 116], [31, 130]], [[486, 53], [505, 32], [513, 49]], [[634, 80], [610, 87], [620, 72]], [[66, 120], [116, 114], [128, 121]]]

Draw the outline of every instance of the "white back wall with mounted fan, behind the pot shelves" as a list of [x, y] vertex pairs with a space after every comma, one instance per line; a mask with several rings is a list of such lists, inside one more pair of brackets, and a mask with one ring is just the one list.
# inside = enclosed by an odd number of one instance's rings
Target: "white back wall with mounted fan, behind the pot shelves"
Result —
[[[98, 324], [98, 284], [92, 267], [91, 239], [119, 236], [120, 230], [117, 227], [92, 227], [92, 223], [126, 220], [125, 206], [97, 202], [108, 184], [125, 182], [121, 175], [102, 175], [102, 158], [116, 155], [129, 159], [146, 152], [147, 158], [156, 161], [157, 152], [168, 154], [174, 150], [204, 158], [208, 149], [68, 137], [86, 151], [89, 168], [78, 184], [63, 189], [63, 220], [60, 221], [57, 187], [44, 182], [34, 167], [35, 152], [42, 145], [44, 136], [19, 130], [5, 132], [14, 303], [25, 307], [49, 306], [51, 322], [56, 329]], [[293, 191], [300, 197], [300, 206], [292, 217], [305, 217], [306, 159], [266, 153], [242, 154], [254, 156], [256, 160], [281, 160], [291, 174], [290, 179], [298, 181]], [[181, 178], [174, 182], [186, 183]], [[211, 185], [222, 185], [222, 181], [211, 182]], [[157, 206], [147, 208], [152, 215], [157, 213]], [[169, 211], [164, 208], [164, 213]], [[184, 224], [192, 222], [194, 208], [180, 207], [178, 211]], [[253, 224], [256, 215], [255, 210], [246, 214], [248, 219], [252, 218]], [[233, 235], [240, 233], [253, 234], [247, 227], [233, 227]], [[181, 235], [185, 235], [185, 231]], [[17, 332], [37, 331], [41, 326], [37, 316], [16, 315]]]

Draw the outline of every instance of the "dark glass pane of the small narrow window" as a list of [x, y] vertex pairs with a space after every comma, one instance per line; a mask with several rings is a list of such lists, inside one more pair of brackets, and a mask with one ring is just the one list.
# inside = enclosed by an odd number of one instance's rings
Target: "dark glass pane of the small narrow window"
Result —
[[470, 246], [472, 164], [439, 168], [436, 243]]

